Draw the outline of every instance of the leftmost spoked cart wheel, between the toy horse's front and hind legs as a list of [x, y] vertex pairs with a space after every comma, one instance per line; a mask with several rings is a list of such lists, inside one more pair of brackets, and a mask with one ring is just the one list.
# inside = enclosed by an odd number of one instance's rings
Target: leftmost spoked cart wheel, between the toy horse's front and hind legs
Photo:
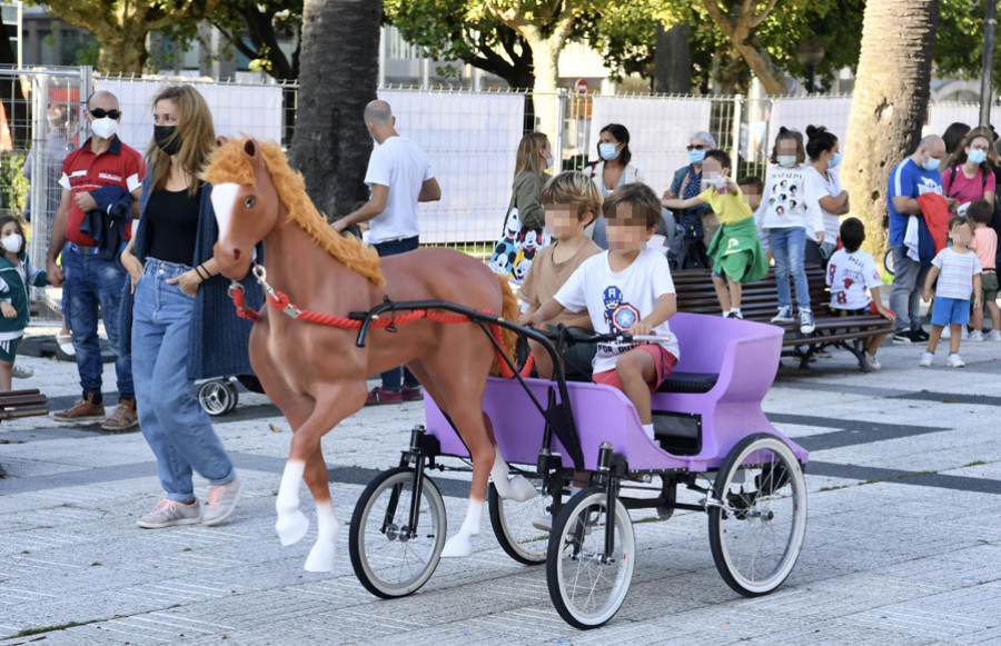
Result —
[[377, 597], [404, 597], [420, 588], [445, 547], [445, 503], [430, 478], [420, 486], [417, 526], [409, 527], [414, 469], [397, 467], [369, 483], [351, 516], [355, 575]]

